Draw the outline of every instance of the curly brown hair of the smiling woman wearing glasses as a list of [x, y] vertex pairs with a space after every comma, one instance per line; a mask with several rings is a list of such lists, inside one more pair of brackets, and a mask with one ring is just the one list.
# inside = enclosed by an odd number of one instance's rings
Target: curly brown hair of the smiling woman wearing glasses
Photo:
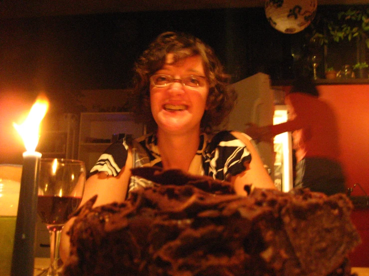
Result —
[[236, 93], [229, 88], [231, 76], [215, 56], [213, 49], [200, 39], [187, 33], [164, 32], [143, 52], [134, 66], [133, 112], [136, 121], [154, 131], [157, 125], [150, 108], [150, 77], [163, 67], [168, 53], [174, 54], [174, 62], [200, 55], [205, 76], [209, 81], [207, 107], [201, 119], [201, 130], [210, 133], [219, 126], [231, 112], [236, 101]]

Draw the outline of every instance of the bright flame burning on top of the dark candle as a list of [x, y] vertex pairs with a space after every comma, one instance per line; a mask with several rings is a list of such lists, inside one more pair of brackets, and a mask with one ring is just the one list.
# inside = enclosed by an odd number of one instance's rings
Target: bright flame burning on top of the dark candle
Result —
[[15, 130], [23, 140], [27, 151], [35, 151], [39, 139], [40, 124], [48, 109], [48, 100], [38, 97], [27, 118], [20, 125], [13, 123]]

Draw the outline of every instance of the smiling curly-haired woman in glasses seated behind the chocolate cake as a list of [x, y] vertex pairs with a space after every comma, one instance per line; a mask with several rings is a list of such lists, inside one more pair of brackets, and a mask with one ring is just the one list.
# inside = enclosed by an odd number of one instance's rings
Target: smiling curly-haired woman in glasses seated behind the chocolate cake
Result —
[[[149, 185], [131, 177], [137, 165], [228, 180], [240, 195], [247, 194], [245, 184], [274, 188], [246, 135], [212, 134], [230, 113], [235, 94], [227, 90], [230, 77], [209, 46], [188, 34], [163, 33], [135, 64], [134, 80], [135, 114], [153, 134], [112, 144], [91, 169], [81, 204], [95, 194], [95, 206], [123, 201], [128, 191]], [[70, 224], [63, 229], [62, 259]]]

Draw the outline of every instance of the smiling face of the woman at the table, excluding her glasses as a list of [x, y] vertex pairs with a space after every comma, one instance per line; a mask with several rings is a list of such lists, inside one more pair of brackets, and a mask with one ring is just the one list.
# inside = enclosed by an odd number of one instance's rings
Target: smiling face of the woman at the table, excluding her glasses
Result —
[[[198, 55], [187, 57], [173, 63], [173, 54], [168, 54], [166, 63], [156, 74], [163, 74], [157, 79], [160, 83], [168, 76], [169, 79], [171, 77], [175, 79], [164, 87], [156, 87], [152, 82], [150, 84], [151, 112], [158, 129], [176, 134], [198, 131], [209, 93], [201, 57]], [[196, 82], [196, 79], [189, 79], [189, 85], [183, 85], [178, 80], [190, 75], [196, 76], [202, 83], [199, 86], [192, 86], [192, 82]]]

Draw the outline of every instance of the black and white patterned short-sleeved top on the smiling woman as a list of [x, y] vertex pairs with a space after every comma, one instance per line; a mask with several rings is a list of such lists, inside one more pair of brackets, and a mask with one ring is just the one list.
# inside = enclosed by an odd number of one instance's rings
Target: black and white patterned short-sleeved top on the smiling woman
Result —
[[[125, 165], [128, 146], [132, 148], [132, 167], [162, 167], [156, 136], [148, 134], [133, 141], [122, 138], [112, 143], [99, 157], [90, 173], [106, 172], [108, 175], [117, 176]], [[234, 137], [231, 132], [222, 131], [211, 137], [201, 134], [199, 148], [188, 172], [226, 180], [231, 175], [245, 171], [244, 164], [250, 161], [251, 153], [245, 143]], [[128, 191], [151, 184], [145, 179], [131, 177]]]

